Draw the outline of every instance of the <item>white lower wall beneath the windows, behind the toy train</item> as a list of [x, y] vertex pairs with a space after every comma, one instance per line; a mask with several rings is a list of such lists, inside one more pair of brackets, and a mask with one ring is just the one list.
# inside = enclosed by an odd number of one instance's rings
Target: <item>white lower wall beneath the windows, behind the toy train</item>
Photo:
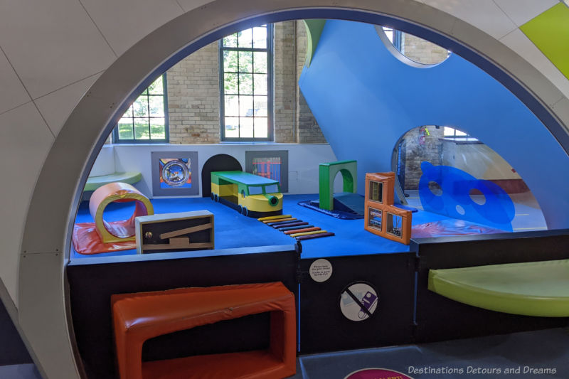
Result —
[[[289, 192], [318, 193], [318, 164], [336, 161], [329, 144], [199, 144], [199, 145], [114, 145], [118, 172], [137, 171], [142, 181], [135, 186], [152, 197], [151, 151], [198, 151], [199, 178], [208, 159], [228, 154], [245, 170], [245, 151], [287, 150], [289, 152]], [[200, 183], [201, 196], [201, 183]]]

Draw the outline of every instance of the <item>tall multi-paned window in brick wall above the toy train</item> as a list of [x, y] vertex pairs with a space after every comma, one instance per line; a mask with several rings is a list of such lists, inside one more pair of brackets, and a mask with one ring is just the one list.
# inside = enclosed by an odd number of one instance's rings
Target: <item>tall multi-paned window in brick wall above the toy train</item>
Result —
[[272, 141], [272, 25], [219, 41], [222, 141]]

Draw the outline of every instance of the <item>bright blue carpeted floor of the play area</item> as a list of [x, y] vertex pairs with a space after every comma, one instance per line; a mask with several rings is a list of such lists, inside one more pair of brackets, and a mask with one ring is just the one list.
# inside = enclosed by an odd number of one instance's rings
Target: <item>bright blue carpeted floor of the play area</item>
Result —
[[[318, 198], [318, 195], [286, 195], [283, 203], [283, 212], [295, 218], [309, 222], [322, 230], [335, 233], [333, 237], [317, 238], [302, 242], [303, 258], [334, 257], [339, 255], [381, 254], [389, 252], [406, 252], [409, 246], [395, 241], [386, 240], [363, 230], [363, 220], [339, 220], [338, 218], [319, 213], [315, 210], [298, 205], [299, 201]], [[216, 249], [230, 247], [248, 247], [265, 245], [289, 245], [294, 239], [280, 233], [254, 218], [240, 215], [235, 210], [210, 198], [156, 198], [152, 200], [154, 213], [174, 213], [188, 210], [209, 210], [215, 217]], [[130, 218], [134, 210], [132, 203], [111, 203], [105, 209], [104, 218], [107, 221], [124, 220]], [[435, 215], [419, 211], [413, 213], [413, 224], [428, 221], [447, 219], [442, 215]], [[88, 202], [83, 202], [78, 210], [75, 223], [92, 222]], [[136, 254], [135, 250], [123, 252], [97, 254], [129, 255]], [[89, 257], [72, 252], [73, 258]]]

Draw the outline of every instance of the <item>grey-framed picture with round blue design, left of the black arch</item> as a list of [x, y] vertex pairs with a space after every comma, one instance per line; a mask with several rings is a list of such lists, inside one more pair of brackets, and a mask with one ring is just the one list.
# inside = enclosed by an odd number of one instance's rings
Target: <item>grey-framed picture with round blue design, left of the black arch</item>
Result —
[[199, 195], [197, 151], [152, 151], [153, 196]]

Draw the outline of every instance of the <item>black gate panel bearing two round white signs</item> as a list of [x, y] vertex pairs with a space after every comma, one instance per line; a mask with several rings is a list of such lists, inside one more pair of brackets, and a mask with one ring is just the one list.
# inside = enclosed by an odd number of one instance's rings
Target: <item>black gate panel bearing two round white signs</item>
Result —
[[[300, 353], [413, 341], [414, 252], [325, 259], [332, 265], [332, 274], [321, 283], [309, 275], [316, 259], [300, 261]], [[378, 294], [376, 311], [363, 321], [346, 319], [340, 310], [341, 292], [353, 282], [366, 282]]]

